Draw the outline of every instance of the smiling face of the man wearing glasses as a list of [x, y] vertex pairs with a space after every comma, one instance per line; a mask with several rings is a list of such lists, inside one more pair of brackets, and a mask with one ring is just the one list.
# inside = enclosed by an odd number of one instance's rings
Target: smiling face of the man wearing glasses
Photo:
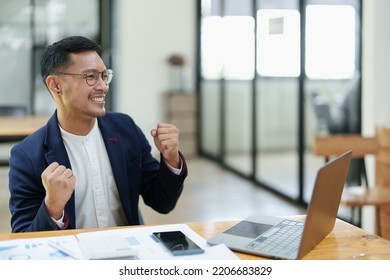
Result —
[[[95, 51], [72, 53], [69, 55], [72, 64], [63, 73], [84, 74], [91, 71], [102, 72], [106, 67]], [[99, 74], [95, 85], [88, 85], [81, 75], [60, 75], [61, 95], [57, 106], [68, 119], [95, 118], [103, 116], [105, 110], [105, 97], [109, 86], [104, 83]], [[92, 84], [92, 83], [90, 83]]]

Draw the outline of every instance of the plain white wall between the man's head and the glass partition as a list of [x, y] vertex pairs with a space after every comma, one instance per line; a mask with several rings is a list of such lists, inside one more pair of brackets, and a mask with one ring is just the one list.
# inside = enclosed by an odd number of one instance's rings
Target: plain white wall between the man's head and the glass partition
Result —
[[163, 120], [162, 96], [168, 90], [173, 53], [187, 60], [187, 90], [195, 88], [196, 1], [117, 1], [115, 65], [116, 111], [132, 116], [144, 133]]

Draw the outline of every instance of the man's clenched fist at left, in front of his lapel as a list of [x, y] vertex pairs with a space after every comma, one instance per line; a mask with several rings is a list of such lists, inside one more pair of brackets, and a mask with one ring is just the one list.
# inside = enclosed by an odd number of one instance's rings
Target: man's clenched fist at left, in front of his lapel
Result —
[[71, 169], [53, 162], [43, 171], [41, 178], [46, 190], [46, 208], [49, 215], [58, 220], [75, 189], [76, 177]]

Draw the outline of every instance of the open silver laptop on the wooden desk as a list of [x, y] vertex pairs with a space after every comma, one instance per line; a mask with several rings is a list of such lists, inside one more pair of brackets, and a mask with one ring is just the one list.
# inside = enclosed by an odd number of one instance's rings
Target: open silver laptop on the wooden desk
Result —
[[345, 152], [318, 170], [304, 221], [255, 214], [207, 243], [267, 258], [301, 259], [335, 225], [351, 156], [352, 151]]

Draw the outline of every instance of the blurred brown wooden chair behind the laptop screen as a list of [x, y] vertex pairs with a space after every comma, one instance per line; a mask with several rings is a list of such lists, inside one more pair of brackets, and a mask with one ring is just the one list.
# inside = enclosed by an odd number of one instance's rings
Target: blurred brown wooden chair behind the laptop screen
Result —
[[[378, 137], [338, 134], [330, 136], [316, 136], [313, 141], [312, 150], [313, 154], [323, 156], [325, 160], [329, 160], [331, 157], [337, 156], [347, 150], [352, 150], [353, 158], [364, 159], [365, 156], [374, 155], [377, 160], [377, 155], [381, 149], [380, 147], [381, 145], [379, 143]], [[390, 162], [390, 158], [388, 161]], [[380, 182], [377, 182], [375, 186], [369, 186], [365, 172], [363, 175], [366, 178], [366, 184], [364, 186], [346, 187], [344, 189], [340, 204], [350, 207], [352, 213], [355, 212], [355, 209], [359, 210], [359, 221], [357, 223], [358, 226], [360, 226], [361, 209], [364, 206], [374, 206], [376, 209], [375, 233], [379, 236], [382, 236], [384, 223], [383, 219], [381, 218], [382, 212], [380, 209], [383, 206], [390, 206], [390, 184], [389, 188], [384, 188], [381, 185], [378, 185]]]

